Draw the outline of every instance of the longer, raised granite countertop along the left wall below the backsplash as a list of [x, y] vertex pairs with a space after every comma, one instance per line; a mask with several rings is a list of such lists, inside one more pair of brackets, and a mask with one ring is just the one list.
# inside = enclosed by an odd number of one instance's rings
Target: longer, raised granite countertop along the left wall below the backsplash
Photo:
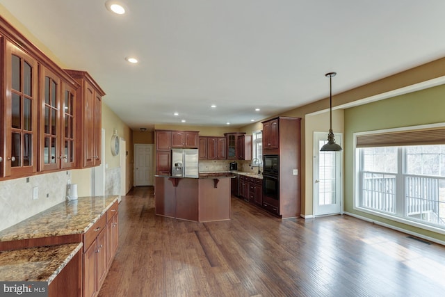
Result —
[[1, 230], [0, 241], [81, 234], [86, 232], [117, 200], [118, 196], [113, 195], [79, 197], [78, 200], [61, 202]]

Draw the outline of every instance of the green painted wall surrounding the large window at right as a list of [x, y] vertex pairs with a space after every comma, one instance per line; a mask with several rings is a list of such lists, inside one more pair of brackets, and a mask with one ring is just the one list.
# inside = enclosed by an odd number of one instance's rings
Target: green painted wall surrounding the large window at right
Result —
[[346, 109], [344, 113], [345, 211], [445, 241], [444, 234], [422, 230], [353, 209], [353, 133], [445, 122], [445, 86]]

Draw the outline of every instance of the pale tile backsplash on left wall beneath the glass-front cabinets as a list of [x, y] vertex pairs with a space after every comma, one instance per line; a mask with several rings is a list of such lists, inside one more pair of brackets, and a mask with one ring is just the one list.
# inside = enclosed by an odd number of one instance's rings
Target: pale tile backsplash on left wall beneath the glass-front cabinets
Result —
[[[59, 171], [0, 182], [0, 230], [65, 201], [70, 171]], [[38, 199], [33, 200], [33, 187]]]

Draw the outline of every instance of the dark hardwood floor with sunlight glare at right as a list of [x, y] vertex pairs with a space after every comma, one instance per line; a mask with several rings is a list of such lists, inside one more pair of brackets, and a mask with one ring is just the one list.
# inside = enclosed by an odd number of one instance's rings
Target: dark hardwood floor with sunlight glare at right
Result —
[[445, 296], [445, 247], [350, 216], [280, 220], [232, 198], [232, 220], [155, 216], [152, 187], [119, 207], [99, 296]]

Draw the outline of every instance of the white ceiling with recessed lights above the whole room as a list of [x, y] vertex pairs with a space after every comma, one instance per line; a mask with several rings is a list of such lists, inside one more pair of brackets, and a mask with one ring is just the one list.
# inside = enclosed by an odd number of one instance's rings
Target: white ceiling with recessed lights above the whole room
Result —
[[120, 2], [125, 15], [105, 0], [1, 5], [67, 67], [88, 71], [136, 130], [182, 119], [241, 127], [328, 97], [327, 72], [338, 73], [335, 94], [445, 56], [444, 0]]

